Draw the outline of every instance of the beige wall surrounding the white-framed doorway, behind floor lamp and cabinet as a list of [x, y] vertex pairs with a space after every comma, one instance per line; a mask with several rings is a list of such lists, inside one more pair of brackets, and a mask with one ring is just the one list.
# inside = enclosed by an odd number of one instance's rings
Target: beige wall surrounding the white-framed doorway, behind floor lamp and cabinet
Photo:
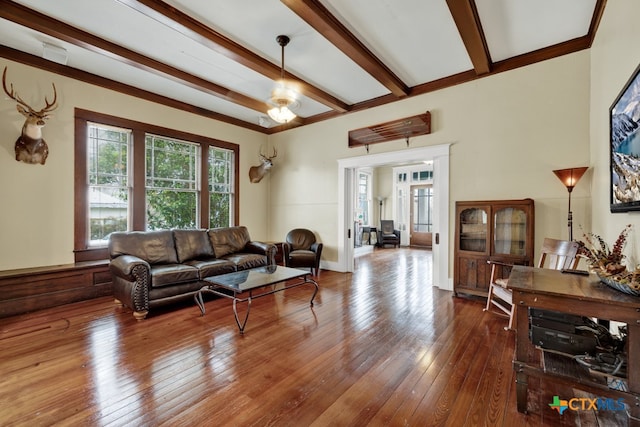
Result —
[[[293, 226], [310, 228], [325, 244], [323, 258], [336, 261], [337, 159], [365, 155], [364, 148], [347, 147], [348, 131], [427, 110], [433, 133], [410, 144], [453, 144], [450, 239], [456, 200], [525, 197], [536, 201], [535, 247], [546, 236], [567, 238], [567, 191], [552, 170], [589, 164], [589, 66], [589, 52], [578, 52], [270, 136], [279, 159], [270, 178], [270, 238]], [[404, 140], [370, 147], [403, 149]], [[572, 197], [574, 233], [591, 223], [591, 174], [583, 180]], [[452, 268], [450, 262], [450, 278]]]

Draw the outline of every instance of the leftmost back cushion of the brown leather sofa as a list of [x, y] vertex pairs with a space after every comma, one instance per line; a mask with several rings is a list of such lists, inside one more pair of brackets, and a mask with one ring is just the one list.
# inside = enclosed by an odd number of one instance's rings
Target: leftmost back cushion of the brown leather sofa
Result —
[[171, 230], [112, 233], [109, 238], [109, 253], [111, 258], [120, 255], [137, 256], [149, 264], [178, 262]]

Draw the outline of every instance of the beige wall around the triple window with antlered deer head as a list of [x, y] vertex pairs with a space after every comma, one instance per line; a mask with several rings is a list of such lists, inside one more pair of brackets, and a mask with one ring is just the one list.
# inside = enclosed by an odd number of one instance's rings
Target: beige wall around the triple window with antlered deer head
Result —
[[0, 98], [0, 270], [73, 262], [73, 111], [75, 107], [240, 144], [240, 223], [254, 239], [267, 238], [267, 183], [250, 184], [265, 135], [194, 114], [142, 101], [97, 86], [0, 60], [7, 80], [34, 108], [58, 89], [60, 107], [43, 130], [49, 145], [44, 166], [14, 160], [14, 143], [24, 122], [15, 102]]

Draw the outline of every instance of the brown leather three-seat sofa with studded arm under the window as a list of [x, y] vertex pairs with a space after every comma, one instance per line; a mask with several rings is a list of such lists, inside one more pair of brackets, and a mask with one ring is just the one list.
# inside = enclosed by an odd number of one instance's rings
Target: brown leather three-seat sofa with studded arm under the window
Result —
[[244, 226], [129, 231], [111, 234], [109, 256], [116, 301], [142, 320], [192, 297], [207, 277], [275, 265], [276, 246], [251, 241]]

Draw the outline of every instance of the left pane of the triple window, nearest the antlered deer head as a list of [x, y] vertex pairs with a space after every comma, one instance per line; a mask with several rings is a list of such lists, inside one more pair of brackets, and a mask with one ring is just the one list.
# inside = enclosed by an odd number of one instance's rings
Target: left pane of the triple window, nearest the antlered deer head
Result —
[[89, 246], [99, 246], [128, 229], [131, 131], [91, 123], [87, 135]]

